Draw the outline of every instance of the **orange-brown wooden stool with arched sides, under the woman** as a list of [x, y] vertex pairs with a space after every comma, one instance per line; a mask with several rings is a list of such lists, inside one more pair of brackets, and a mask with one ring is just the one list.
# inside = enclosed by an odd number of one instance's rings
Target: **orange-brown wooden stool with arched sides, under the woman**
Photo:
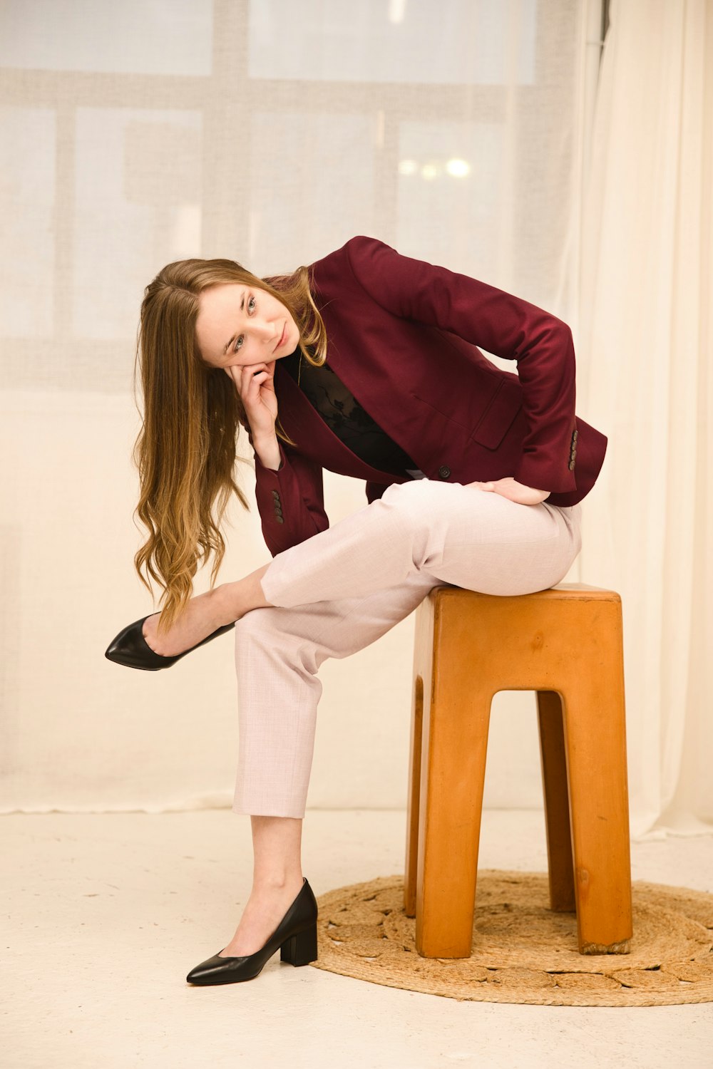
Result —
[[414, 676], [404, 904], [418, 952], [470, 956], [491, 702], [537, 691], [551, 909], [576, 909], [580, 954], [627, 954], [619, 594], [582, 583], [516, 598], [436, 587], [417, 609]]

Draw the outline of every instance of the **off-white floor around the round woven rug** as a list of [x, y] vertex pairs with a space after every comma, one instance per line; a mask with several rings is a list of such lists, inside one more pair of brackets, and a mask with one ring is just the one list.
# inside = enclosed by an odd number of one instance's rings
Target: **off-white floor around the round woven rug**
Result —
[[[229, 810], [0, 817], [3, 1069], [547, 1069], [713, 1066], [713, 1004], [637, 1009], [455, 1002], [293, 969], [185, 975], [232, 935], [249, 818]], [[314, 893], [403, 873], [405, 812], [308, 810]], [[633, 845], [634, 879], [713, 890], [713, 837]], [[545, 871], [542, 815], [486, 811], [480, 867]], [[4, 933], [3, 933], [4, 934]]]

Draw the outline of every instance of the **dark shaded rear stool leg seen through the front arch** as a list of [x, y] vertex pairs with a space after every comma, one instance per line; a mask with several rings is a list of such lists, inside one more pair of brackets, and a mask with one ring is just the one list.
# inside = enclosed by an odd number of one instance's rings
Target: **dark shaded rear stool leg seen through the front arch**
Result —
[[549, 862], [549, 909], [558, 913], [568, 913], [574, 912], [576, 900], [562, 701], [556, 691], [538, 691], [537, 696]]

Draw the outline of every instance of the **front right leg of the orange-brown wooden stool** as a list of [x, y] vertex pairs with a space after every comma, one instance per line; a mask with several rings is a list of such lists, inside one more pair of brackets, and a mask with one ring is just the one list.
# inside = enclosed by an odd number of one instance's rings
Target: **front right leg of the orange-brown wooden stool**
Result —
[[580, 954], [627, 954], [632, 887], [623, 668], [602, 659], [563, 688]]

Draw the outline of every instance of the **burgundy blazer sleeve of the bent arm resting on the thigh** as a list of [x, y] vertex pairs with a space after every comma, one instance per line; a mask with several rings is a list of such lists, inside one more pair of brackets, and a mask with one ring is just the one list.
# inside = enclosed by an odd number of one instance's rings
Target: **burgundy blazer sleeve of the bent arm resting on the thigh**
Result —
[[387, 311], [450, 330], [489, 353], [517, 361], [528, 430], [512, 475], [537, 490], [575, 490], [569, 466], [576, 443], [570, 327], [527, 300], [467, 275], [401, 255], [376, 238], [353, 237], [345, 250], [358, 283]]

